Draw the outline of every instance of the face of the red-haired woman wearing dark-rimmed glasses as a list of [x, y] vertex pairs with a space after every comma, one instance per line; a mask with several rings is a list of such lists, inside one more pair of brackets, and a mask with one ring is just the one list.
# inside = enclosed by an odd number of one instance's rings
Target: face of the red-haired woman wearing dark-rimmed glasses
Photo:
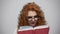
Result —
[[38, 20], [37, 13], [35, 11], [28, 11], [28, 23], [30, 26], [35, 26]]

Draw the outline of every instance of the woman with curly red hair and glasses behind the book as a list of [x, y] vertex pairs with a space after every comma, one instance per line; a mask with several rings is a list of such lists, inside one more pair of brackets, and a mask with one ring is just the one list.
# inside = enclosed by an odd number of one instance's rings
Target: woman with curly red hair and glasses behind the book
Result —
[[34, 2], [26, 4], [20, 11], [17, 31], [21, 26], [36, 27], [40, 25], [46, 25], [44, 12]]

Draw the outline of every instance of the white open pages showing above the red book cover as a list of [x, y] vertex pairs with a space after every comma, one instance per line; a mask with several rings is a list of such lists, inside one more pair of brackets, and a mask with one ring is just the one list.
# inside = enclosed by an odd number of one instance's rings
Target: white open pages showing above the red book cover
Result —
[[35, 29], [42, 29], [42, 28], [48, 28], [48, 25], [36, 26], [34, 28], [32, 26], [21, 26], [18, 31], [35, 30]]

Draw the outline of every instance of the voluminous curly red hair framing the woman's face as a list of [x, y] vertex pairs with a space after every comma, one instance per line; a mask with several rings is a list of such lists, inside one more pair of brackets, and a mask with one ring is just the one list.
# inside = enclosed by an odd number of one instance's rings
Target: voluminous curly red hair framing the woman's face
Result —
[[40, 16], [39, 20], [36, 23], [36, 26], [39, 25], [46, 25], [45, 17], [44, 17], [44, 12], [40, 9], [38, 5], [36, 5], [34, 2], [33, 3], [28, 3], [26, 4], [22, 11], [19, 14], [18, 18], [18, 29], [20, 26], [28, 26], [28, 21], [27, 21], [27, 15], [28, 11], [36, 11], [37, 15]]

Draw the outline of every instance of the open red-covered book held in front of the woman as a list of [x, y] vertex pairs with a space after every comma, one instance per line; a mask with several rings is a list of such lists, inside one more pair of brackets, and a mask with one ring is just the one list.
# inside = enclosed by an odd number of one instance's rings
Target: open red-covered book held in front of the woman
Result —
[[49, 33], [49, 27], [47, 25], [42, 26], [21, 26], [18, 30], [18, 34], [48, 34]]

